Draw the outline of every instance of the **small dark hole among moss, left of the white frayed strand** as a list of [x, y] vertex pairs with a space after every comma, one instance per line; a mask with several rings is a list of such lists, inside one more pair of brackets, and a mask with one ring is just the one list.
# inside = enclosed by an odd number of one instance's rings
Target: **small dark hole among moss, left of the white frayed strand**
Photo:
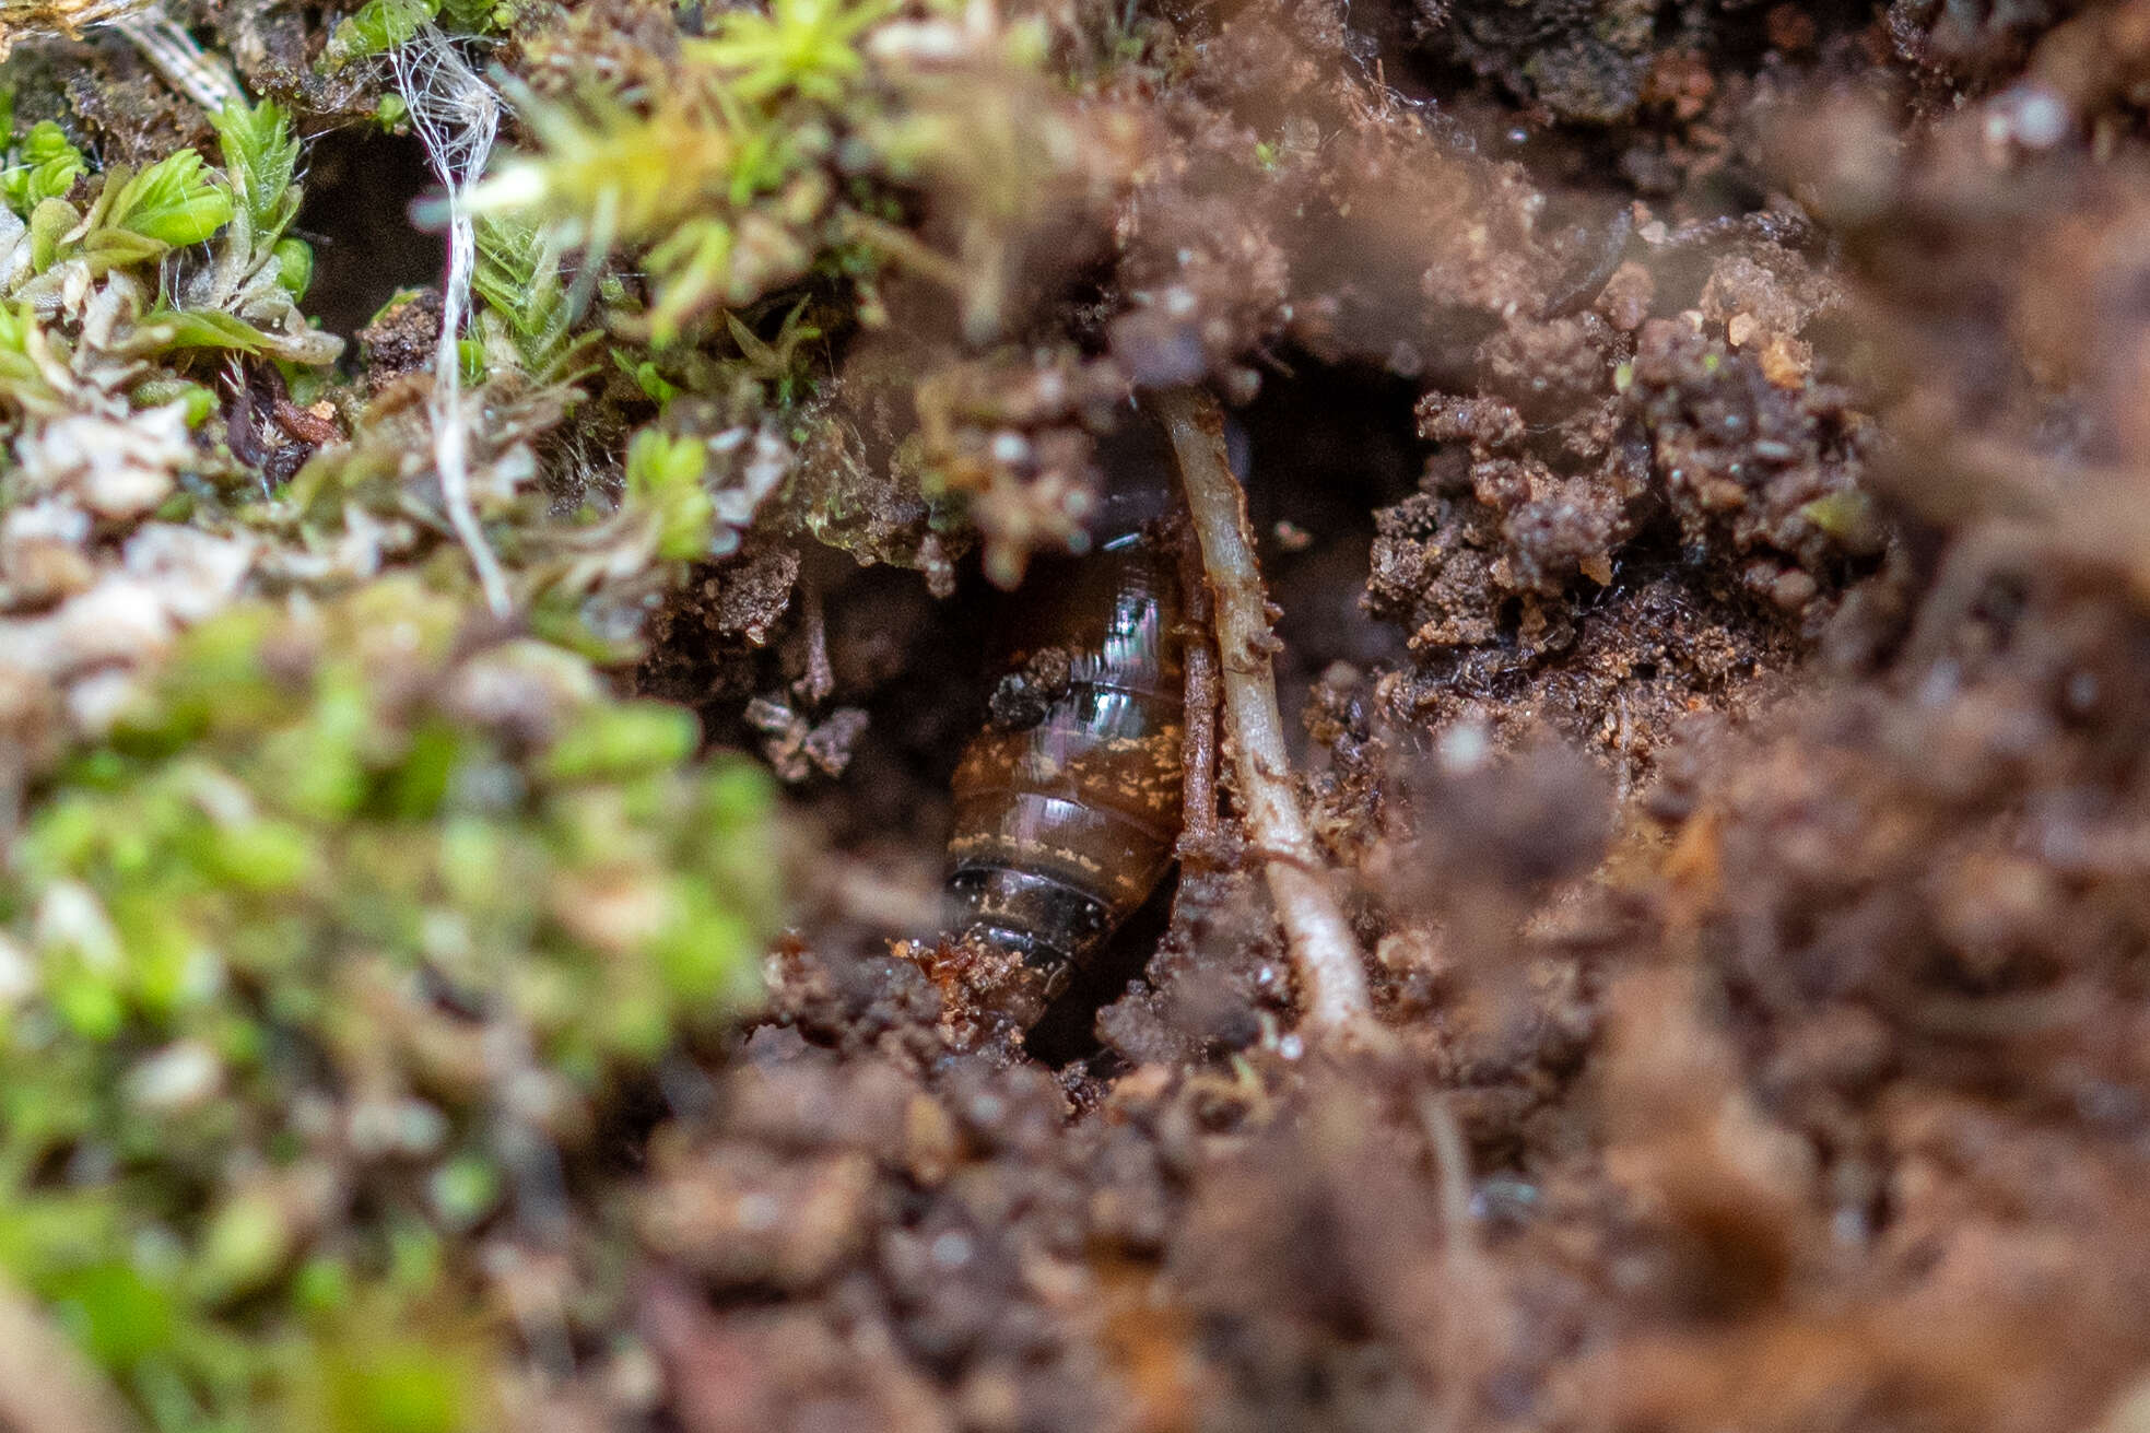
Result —
[[411, 222], [434, 187], [424, 146], [372, 127], [331, 129], [305, 151], [297, 232], [314, 245], [305, 312], [350, 338], [402, 288], [439, 284], [447, 243]]

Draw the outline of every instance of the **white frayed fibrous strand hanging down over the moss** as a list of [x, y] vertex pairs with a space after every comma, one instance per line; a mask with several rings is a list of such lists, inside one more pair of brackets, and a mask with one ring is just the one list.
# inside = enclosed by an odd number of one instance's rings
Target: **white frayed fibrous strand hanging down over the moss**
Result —
[[477, 265], [471, 185], [486, 172], [486, 159], [492, 155], [492, 140], [501, 129], [501, 97], [430, 24], [396, 47], [393, 67], [396, 88], [426, 146], [426, 159], [447, 185], [447, 280], [441, 284], [441, 340], [432, 355], [432, 465], [441, 478], [447, 521], [471, 553], [486, 605], [492, 607], [492, 615], [505, 618], [514, 609], [507, 574], [501, 572], [501, 559], [492, 555], [471, 508], [471, 439], [462, 411], [462, 355], [456, 349], [462, 316], [471, 308], [471, 271]]

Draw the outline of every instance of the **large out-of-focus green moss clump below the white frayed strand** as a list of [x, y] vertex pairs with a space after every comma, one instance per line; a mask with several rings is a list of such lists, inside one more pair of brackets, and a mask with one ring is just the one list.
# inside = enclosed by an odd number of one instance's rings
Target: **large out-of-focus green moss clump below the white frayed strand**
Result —
[[755, 998], [768, 781], [464, 611], [241, 605], [37, 798], [0, 1269], [155, 1429], [484, 1427], [514, 1151]]

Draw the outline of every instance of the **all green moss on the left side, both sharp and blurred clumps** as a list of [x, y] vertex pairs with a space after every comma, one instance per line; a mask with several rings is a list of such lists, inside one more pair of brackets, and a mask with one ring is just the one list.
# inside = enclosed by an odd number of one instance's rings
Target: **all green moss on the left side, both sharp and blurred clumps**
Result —
[[[327, 62], [514, 13], [374, 0]], [[0, 228], [30, 256], [0, 290], [0, 439], [183, 405], [172, 491], [84, 551], [108, 574], [144, 516], [252, 551], [247, 596], [127, 669], [110, 732], [41, 757], [0, 869], [0, 1278], [144, 1427], [505, 1427], [518, 1330], [482, 1244], [565, 1170], [596, 1261], [624, 1263], [585, 1140], [752, 1007], [783, 893], [763, 772], [697, 755], [688, 712], [608, 695], [593, 663], [634, 658], [662, 590], [785, 478], [823, 336], [912, 222], [922, 140], [869, 43], [894, 17], [733, 6], [628, 56], [617, 93], [525, 101], [540, 148], [488, 189], [462, 336], [514, 637], [424, 402], [359, 411], [299, 308], [292, 110], [374, 112], [381, 67], [234, 105], [200, 151], [108, 146], [140, 157], [112, 168], [0, 116]], [[275, 486], [234, 452], [232, 417], [267, 428], [228, 407], [260, 394], [232, 372], [335, 398], [350, 441]], [[19, 473], [0, 463], [0, 506]]]

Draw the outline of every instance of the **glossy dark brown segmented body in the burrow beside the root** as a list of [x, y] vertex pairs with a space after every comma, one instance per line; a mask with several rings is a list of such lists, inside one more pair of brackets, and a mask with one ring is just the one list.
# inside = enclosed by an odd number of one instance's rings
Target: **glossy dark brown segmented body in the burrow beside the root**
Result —
[[1008, 669], [1064, 682], [1023, 723], [983, 729], [955, 770], [955, 923], [1023, 955], [1047, 998], [1150, 897], [1180, 833], [1180, 555], [1157, 521], [1170, 501], [1120, 495], [1092, 555], [1026, 583], [1045, 590]]

